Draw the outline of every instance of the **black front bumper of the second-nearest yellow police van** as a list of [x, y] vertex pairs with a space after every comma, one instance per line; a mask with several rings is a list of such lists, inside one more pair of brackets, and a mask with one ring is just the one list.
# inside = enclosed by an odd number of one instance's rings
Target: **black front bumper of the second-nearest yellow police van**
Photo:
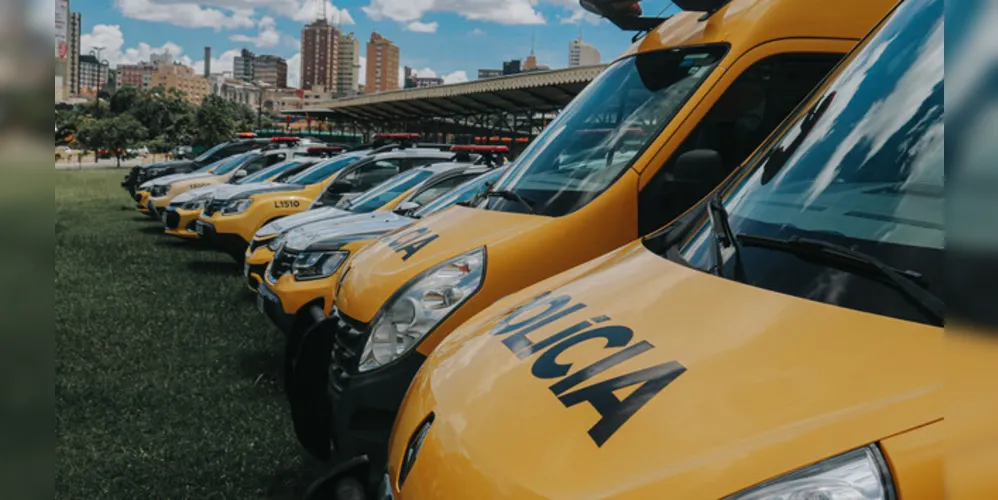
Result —
[[[372, 464], [384, 464], [395, 416], [426, 358], [412, 350], [360, 373], [366, 325], [335, 308], [322, 321], [317, 310], [309, 306], [298, 315], [311, 320], [296, 322], [285, 346], [285, 359], [293, 360], [287, 396], [298, 441], [320, 460], [329, 460], [335, 450], [339, 459], [366, 455]], [[384, 469], [379, 465], [370, 472], [369, 482], [377, 481]]]

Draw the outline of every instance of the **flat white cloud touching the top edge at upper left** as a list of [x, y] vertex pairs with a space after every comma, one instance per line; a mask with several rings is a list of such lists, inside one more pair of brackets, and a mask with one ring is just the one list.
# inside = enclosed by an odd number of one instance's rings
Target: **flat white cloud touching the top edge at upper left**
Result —
[[164, 2], [156, 0], [115, 0], [115, 5], [125, 17], [141, 21], [175, 24], [185, 28], [238, 29], [256, 26], [253, 9], [228, 7], [202, 7], [197, 3]]

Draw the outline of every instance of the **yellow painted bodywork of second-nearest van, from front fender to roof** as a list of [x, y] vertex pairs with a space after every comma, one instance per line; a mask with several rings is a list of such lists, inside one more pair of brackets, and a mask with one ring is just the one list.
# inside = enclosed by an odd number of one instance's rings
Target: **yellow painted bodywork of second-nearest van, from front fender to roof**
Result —
[[[352, 263], [337, 308], [370, 321], [399, 288], [442, 261], [486, 247], [479, 291], [437, 325], [416, 350], [428, 354], [454, 328], [496, 300], [625, 245], [638, 234], [638, 194], [724, 91], [755, 62], [778, 53], [851, 50], [895, 0], [849, 0], [834, 6], [792, 0], [736, 0], [700, 21], [680, 13], [630, 52], [728, 44], [728, 54], [680, 108], [663, 132], [606, 191], [570, 214], [552, 218], [454, 207], [410, 226], [436, 236], [403, 260], [379, 240]], [[403, 233], [404, 234], [404, 233]]]

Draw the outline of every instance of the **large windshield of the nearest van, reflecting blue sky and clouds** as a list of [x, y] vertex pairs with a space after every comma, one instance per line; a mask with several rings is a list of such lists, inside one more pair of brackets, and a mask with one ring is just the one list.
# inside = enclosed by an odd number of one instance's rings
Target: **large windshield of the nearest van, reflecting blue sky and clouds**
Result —
[[716, 231], [697, 215], [666, 255], [780, 293], [937, 324], [883, 275], [762, 243], [832, 243], [942, 295], [942, 0], [903, 3], [829, 81], [722, 193], [740, 248], [717, 266]]

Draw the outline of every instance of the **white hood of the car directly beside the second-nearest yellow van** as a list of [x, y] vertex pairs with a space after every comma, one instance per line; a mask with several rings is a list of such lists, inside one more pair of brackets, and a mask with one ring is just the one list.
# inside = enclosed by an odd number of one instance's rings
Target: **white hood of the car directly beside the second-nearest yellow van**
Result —
[[288, 231], [285, 247], [296, 252], [339, 250], [347, 243], [376, 238], [415, 220], [394, 212], [351, 214], [320, 220]]

